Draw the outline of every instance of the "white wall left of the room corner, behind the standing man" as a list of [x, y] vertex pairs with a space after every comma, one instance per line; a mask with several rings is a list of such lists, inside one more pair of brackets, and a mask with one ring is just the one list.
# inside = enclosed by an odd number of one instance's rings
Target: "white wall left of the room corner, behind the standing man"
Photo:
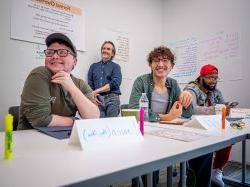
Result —
[[[148, 72], [146, 57], [155, 46], [162, 44], [162, 0], [73, 0], [66, 1], [81, 6], [86, 16], [86, 52], [78, 53], [78, 64], [73, 72], [86, 80], [91, 63], [100, 57], [99, 37], [105, 29], [117, 29], [129, 34], [130, 56], [122, 65], [123, 79], [121, 102], [128, 103], [135, 77]], [[19, 105], [26, 76], [36, 66], [36, 44], [10, 40], [10, 1], [0, 2], [0, 130], [3, 116], [11, 105]], [[25, 21], [25, 20], [24, 20]]]

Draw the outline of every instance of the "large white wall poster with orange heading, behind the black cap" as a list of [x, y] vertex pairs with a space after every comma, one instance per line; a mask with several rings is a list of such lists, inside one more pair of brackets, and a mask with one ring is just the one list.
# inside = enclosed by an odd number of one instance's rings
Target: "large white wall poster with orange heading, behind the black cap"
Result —
[[44, 44], [47, 35], [68, 35], [77, 50], [85, 50], [84, 12], [58, 0], [12, 0], [11, 38]]

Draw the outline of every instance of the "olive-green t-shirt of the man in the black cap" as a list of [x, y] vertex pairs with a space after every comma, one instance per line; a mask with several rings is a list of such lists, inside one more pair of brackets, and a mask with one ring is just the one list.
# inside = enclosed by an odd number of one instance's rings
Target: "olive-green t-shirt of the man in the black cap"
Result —
[[[82, 93], [95, 103], [92, 89], [82, 79], [70, 75]], [[71, 95], [62, 85], [51, 82], [52, 72], [40, 66], [28, 75], [21, 95], [18, 130], [48, 126], [52, 114], [73, 117], [77, 112]]]

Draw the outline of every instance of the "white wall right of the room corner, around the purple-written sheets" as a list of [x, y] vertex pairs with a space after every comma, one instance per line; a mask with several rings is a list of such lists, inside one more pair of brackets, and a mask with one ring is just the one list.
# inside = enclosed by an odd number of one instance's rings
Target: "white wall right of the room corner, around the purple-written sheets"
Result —
[[[219, 31], [236, 31], [240, 35], [242, 80], [223, 81], [218, 87], [226, 101], [238, 101], [250, 108], [250, 23], [249, 0], [165, 0], [163, 16], [164, 44], [187, 36], [209, 35]], [[178, 58], [178, 57], [177, 57]], [[238, 64], [235, 64], [237, 66]], [[225, 69], [234, 67], [224, 67]], [[233, 76], [233, 75], [232, 75]], [[240, 145], [234, 146], [232, 159], [240, 160]], [[247, 143], [250, 162], [250, 144]]]

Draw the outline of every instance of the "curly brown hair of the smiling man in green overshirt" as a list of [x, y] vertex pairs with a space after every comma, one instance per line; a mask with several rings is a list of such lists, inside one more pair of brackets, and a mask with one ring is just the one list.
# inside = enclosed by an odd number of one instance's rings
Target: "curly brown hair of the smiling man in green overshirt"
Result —
[[172, 53], [172, 51], [168, 48], [168, 47], [164, 47], [164, 46], [160, 46], [160, 47], [156, 47], [154, 48], [153, 51], [151, 51], [148, 55], [148, 64], [151, 65], [152, 61], [154, 58], [158, 58], [158, 57], [167, 57], [170, 62], [172, 63], [172, 65], [174, 65], [174, 61], [175, 61], [175, 56]]

